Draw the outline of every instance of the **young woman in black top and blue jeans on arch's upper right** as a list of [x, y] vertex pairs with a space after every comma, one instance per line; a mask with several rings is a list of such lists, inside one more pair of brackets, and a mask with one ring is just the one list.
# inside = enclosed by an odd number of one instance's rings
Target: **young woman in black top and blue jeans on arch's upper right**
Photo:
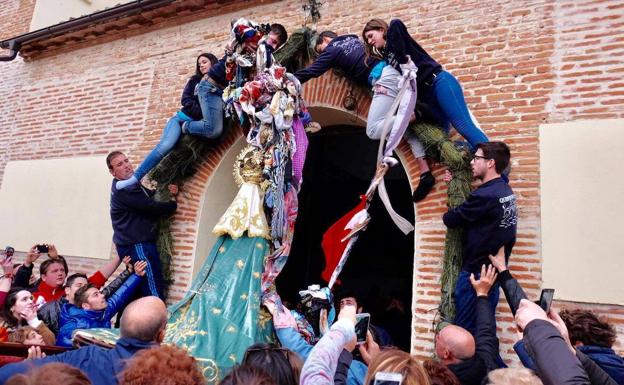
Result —
[[[418, 67], [417, 100], [427, 104], [439, 120], [442, 128], [448, 132], [449, 123], [455, 127], [469, 143], [472, 150], [481, 142], [487, 142], [485, 133], [477, 126], [468, 111], [464, 93], [455, 76], [446, 72], [429, 54], [410, 36], [405, 24], [394, 19], [390, 25], [380, 19], [372, 19], [364, 26], [362, 38], [367, 55], [381, 55], [384, 60], [401, 73], [401, 64], [408, 60]], [[431, 190], [435, 180], [426, 170], [420, 176], [420, 184], [414, 191], [414, 201], [424, 198]]]

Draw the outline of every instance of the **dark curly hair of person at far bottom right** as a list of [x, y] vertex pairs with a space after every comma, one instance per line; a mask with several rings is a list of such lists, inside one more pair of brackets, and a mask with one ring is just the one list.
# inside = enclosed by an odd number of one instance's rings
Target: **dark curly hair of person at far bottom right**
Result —
[[583, 345], [610, 348], [615, 343], [617, 334], [613, 325], [589, 310], [564, 309], [559, 316], [568, 328], [572, 345], [581, 342]]

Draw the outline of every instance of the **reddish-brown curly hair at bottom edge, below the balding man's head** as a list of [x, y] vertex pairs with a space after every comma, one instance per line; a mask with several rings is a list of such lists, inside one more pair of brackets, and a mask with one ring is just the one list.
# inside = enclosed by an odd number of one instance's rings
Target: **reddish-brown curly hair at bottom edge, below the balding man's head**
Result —
[[119, 374], [120, 385], [204, 385], [197, 361], [184, 349], [161, 345], [135, 354]]

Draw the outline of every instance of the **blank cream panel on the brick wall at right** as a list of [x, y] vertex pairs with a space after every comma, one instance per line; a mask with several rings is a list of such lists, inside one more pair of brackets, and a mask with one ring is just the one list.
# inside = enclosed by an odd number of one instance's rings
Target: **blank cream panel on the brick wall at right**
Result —
[[624, 119], [540, 126], [543, 287], [624, 305]]

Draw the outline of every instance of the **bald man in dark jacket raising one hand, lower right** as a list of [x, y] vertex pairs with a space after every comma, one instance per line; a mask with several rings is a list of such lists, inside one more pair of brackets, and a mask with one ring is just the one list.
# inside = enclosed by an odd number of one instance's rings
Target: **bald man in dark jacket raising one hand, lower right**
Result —
[[480, 385], [487, 374], [500, 367], [498, 338], [494, 310], [488, 302], [488, 293], [496, 281], [496, 269], [485, 265], [478, 280], [470, 275], [476, 292], [477, 327], [474, 338], [464, 328], [449, 325], [436, 334], [435, 351], [440, 361], [448, 366], [462, 385]]

